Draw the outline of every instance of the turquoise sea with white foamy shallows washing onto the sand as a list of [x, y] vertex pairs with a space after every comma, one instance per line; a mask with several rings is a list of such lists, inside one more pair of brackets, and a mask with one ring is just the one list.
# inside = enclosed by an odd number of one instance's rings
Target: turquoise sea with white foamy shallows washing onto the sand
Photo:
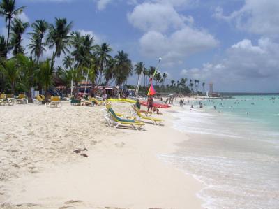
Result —
[[279, 208], [279, 96], [202, 103], [174, 113], [190, 140], [160, 157], [204, 183], [205, 208]]

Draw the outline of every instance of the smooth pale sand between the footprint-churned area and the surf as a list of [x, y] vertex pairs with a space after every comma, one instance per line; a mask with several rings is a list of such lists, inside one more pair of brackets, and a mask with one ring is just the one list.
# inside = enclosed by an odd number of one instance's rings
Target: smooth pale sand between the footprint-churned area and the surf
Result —
[[117, 136], [112, 132], [86, 152], [88, 158], [13, 180], [7, 187], [13, 196], [3, 208], [22, 203], [38, 208], [202, 208], [203, 201], [197, 197], [202, 183], [158, 158], [174, 152], [175, 144], [186, 140], [186, 134], [172, 127], [171, 112], [176, 108], [162, 111], [165, 126], [118, 130], [121, 134]]

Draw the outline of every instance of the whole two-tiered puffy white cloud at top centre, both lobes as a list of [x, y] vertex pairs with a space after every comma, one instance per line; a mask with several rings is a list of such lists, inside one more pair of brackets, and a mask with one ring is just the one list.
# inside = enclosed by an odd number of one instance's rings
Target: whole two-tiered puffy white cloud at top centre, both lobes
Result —
[[[144, 31], [140, 49], [146, 57], [163, 57], [164, 66], [182, 64], [183, 59], [218, 45], [208, 32], [194, 27], [194, 18], [174, 8], [188, 1], [153, 1], [137, 5], [128, 13], [133, 27]], [[160, 2], [160, 3], [159, 3]]]

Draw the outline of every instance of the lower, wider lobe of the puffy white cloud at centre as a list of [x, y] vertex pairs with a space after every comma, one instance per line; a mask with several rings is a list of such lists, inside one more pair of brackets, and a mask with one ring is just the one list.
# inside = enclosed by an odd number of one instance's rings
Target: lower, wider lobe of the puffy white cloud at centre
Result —
[[204, 31], [184, 27], [169, 36], [149, 31], [140, 38], [142, 54], [149, 57], [163, 57], [164, 63], [177, 64], [188, 55], [214, 48], [218, 41]]

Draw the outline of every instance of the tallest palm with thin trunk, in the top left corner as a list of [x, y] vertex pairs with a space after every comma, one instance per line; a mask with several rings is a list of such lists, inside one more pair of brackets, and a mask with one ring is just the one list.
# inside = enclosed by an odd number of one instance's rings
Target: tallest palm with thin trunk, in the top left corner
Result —
[[6, 40], [7, 46], [10, 38], [10, 23], [12, 22], [13, 17], [15, 17], [16, 15], [20, 15], [20, 13], [22, 13], [24, 8], [25, 6], [16, 8], [15, 0], [2, 0], [2, 2], [0, 3], [0, 15], [5, 17], [6, 23], [8, 22], [8, 36]]

